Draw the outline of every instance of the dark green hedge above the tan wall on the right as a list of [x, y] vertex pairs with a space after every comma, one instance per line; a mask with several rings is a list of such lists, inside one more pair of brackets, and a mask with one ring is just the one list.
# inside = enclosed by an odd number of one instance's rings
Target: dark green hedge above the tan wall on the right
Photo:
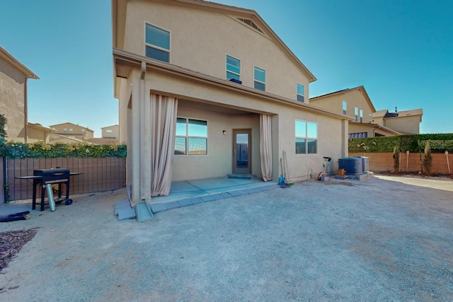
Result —
[[350, 139], [349, 152], [393, 152], [394, 146], [398, 151], [420, 153], [425, 150], [426, 141], [430, 141], [431, 153], [453, 151], [453, 134], [415, 134], [398, 135], [395, 137], [367, 137]]

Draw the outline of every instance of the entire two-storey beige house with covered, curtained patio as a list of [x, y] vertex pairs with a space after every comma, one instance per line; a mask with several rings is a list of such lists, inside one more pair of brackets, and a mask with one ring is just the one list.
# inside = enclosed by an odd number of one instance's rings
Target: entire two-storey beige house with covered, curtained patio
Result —
[[[316, 78], [256, 13], [197, 0], [113, 0], [114, 93], [131, 203], [172, 181], [292, 180], [348, 155], [351, 118], [309, 103]], [[298, 37], [299, 38], [299, 37]]]

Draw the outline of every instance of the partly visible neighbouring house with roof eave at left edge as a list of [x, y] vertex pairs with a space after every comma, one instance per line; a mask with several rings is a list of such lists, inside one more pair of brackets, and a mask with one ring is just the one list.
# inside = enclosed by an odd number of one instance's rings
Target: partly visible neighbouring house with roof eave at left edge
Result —
[[8, 141], [28, 142], [28, 79], [39, 78], [0, 46], [0, 114]]

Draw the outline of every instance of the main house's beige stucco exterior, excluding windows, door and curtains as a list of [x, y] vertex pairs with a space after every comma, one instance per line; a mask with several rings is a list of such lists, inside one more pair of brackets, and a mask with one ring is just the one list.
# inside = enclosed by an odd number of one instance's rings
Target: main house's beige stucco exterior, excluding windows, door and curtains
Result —
[[[309, 83], [316, 78], [287, 49], [255, 11], [204, 1], [112, 1], [115, 97], [120, 102], [120, 141], [128, 144], [127, 185], [132, 201], [143, 199], [151, 94], [178, 99], [178, 117], [207, 122], [207, 154], [173, 156], [172, 180], [224, 177], [233, 172], [236, 129], [251, 133], [251, 174], [262, 177], [260, 115], [271, 117], [273, 180], [287, 153], [292, 180], [309, 169], [323, 170], [323, 156], [348, 155], [350, 117], [309, 104]], [[239, 21], [253, 21], [259, 30]], [[168, 30], [169, 62], [145, 57], [145, 24]], [[226, 79], [226, 55], [241, 60], [241, 81]], [[253, 86], [253, 67], [265, 69], [265, 91]], [[305, 86], [297, 100], [297, 83]], [[145, 113], [144, 113], [145, 112]], [[317, 152], [296, 154], [295, 122], [317, 125]], [[145, 127], [145, 128], [144, 128]], [[146, 195], [146, 194], [145, 194]]]

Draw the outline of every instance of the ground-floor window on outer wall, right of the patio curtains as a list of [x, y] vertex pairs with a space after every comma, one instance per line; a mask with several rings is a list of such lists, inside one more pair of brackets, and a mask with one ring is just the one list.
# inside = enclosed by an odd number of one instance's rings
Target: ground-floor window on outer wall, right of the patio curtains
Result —
[[296, 154], [318, 153], [318, 124], [296, 120]]

